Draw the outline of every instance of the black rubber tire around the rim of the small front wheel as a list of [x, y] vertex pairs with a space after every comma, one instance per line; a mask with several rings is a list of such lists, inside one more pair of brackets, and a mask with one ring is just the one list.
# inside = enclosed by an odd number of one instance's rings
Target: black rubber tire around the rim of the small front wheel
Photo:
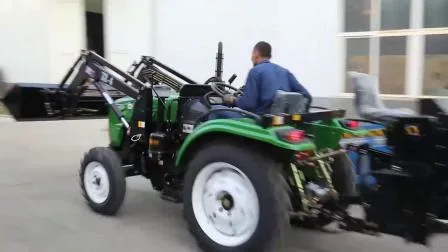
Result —
[[[102, 165], [109, 182], [109, 193], [106, 199], [99, 203], [89, 196], [84, 183], [86, 169], [92, 162], [98, 162]], [[121, 167], [120, 158], [115, 151], [107, 147], [90, 149], [81, 160], [79, 180], [82, 195], [93, 211], [103, 215], [115, 215], [118, 212], [126, 194], [126, 176], [125, 171]]]

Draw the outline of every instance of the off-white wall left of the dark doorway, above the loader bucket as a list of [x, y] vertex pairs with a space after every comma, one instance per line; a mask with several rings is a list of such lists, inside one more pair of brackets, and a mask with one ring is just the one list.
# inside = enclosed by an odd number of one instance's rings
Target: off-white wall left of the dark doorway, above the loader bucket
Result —
[[2, 0], [0, 68], [7, 82], [59, 82], [84, 48], [83, 0]]

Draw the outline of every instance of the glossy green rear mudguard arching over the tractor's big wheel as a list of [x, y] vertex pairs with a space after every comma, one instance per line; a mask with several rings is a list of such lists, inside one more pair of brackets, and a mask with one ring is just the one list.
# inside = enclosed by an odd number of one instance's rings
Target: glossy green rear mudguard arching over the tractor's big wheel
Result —
[[176, 155], [175, 172], [183, 171], [184, 164], [202, 144], [221, 137], [224, 139], [233, 137], [235, 141], [259, 143], [279, 151], [298, 152], [315, 149], [314, 143], [310, 140], [291, 144], [277, 137], [277, 130], [289, 128], [294, 129], [291, 126], [263, 128], [249, 120], [217, 119], [208, 121], [196, 128], [182, 143]]

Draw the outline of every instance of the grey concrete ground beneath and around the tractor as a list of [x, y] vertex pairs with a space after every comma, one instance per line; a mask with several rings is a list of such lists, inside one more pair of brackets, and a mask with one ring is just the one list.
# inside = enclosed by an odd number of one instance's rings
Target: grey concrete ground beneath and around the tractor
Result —
[[[13, 122], [0, 118], [0, 251], [199, 251], [181, 206], [159, 199], [148, 181], [128, 179], [118, 216], [83, 202], [77, 170], [83, 153], [107, 144], [106, 121]], [[402, 239], [295, 229], [287, 251], [431, 251]], [[436, 237], [432, 251], [448, 250]]]

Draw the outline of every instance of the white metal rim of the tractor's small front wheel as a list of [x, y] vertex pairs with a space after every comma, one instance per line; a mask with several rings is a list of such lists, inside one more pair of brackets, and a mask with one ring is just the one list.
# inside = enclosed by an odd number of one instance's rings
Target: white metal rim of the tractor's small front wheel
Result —
[[90, 162], [84, 171], [84, 187], [87, 196], [96, 204], [106, 201], [110, 184], [106, 169], [99, 162]]

